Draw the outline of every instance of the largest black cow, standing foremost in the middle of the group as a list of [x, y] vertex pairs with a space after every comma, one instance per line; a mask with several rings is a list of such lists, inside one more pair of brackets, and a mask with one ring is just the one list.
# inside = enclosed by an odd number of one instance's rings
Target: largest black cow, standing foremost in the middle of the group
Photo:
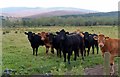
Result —
[[72, 51], [74, 51], [74, 60], [76, 60], [77, 54], [79, 54], [79, 49], [81, 50], [82, 59], [84, 59], [83, 40], [79, 34], [68, 35], [69, 32], [65, 32], [64, 29], [56, 33], [60, 39], [60, 48], [64, 55], [64, 62], [66, 62], [66, 53], [68, 53], [68, 63], [70, 64], [70, 56], [72, 54]]

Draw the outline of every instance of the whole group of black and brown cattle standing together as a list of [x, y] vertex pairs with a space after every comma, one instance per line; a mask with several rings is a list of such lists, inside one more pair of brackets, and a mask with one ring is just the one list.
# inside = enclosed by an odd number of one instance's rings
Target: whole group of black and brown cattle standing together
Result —
[[79, 53], [81, 53], [82, 60], [84, 56], [89, 55], [90, 48], [92, 47], [92, 53], [94, 54], [94, 47], [97, 49], [97, 54], [99, 51], [99, 46], [104, 57], [105, 52], [110, 52], [110, 65], [111, 74], [114, 73], [114, 57], [120, 56], [120, 39], [113, 39], [105, 37], [103, 34], [90, 34], [89, 32], [80, 32], [79, 30], [69, 33], [64, 29], [56, 32], [56, 34], [41, 32], [38, 34], [32, 32], [25, 32], [28, 36], [28, 40], [33, 48], [33, 55], [38, 52], [38, 47], [45, 45], [46, 53], [48, 53], [49, 48], [54, 54], [54, 49], [57, 51], [57, 56], [61, 57], [61, 53], [64, 56], [64, 62], [66, 62], [66, 54], [68, 53], [67, 59], [70, 64], [70, 56], [74, 51], [74, 60], [76, 60]]

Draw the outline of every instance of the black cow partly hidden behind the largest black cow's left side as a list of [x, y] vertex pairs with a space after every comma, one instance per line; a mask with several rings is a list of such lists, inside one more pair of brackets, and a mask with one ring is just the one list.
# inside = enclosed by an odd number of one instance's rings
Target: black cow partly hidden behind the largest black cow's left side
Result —
[[59, 36], [57, 36], [57, 35], [55, 35], [53, 33], [49, 33], [47, 37], [49, 38], [49, 41], [50, 41], [52, 47], [57, 50], [57, 56], [60, 56], [60, 58], [61, 58], [61, 49], [60, 49]]

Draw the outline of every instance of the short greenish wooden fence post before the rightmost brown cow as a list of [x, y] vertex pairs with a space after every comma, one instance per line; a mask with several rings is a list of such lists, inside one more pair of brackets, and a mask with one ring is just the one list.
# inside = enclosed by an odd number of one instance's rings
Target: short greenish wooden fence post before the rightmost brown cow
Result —
[[105, 75], [110, 75], [110, 53], [104, 53], [104, 72]]

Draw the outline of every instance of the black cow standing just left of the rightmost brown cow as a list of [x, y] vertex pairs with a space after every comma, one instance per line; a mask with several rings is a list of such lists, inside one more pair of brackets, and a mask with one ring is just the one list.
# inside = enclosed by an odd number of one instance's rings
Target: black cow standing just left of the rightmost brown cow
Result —
[[[94, 54], [94, 46], [97, 48], [97, 54], [98, 54], [98, 42], [94, 39], [94, 36], [97, 36], [97, 34], [89, 34], [88, 32], [83, 33], [84, 34], [84, 48], [88, 48], [87, 55], [89, 55], [90, 48], [92, 47], [92, 54]], [[84, 55], [86, 56], [86, 49]]]

